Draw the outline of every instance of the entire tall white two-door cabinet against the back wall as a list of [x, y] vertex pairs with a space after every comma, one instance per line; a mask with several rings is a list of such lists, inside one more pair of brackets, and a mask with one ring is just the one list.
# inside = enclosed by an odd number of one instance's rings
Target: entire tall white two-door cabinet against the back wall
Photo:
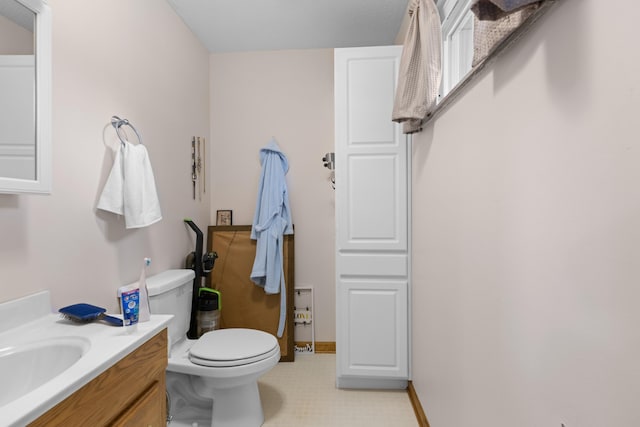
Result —
[[400, 46], [335, 50], [336, 376], [405, 388], [410, 149], [391, 121]]

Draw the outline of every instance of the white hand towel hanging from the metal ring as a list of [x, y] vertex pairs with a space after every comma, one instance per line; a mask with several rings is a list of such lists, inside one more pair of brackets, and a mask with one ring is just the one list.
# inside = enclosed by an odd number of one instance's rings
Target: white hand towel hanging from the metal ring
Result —
[[126, 228], [140, 228], [162, 219], [156, 182], [147, 149], [124, 142], [102, 191], [98, 209], [124, 215]]

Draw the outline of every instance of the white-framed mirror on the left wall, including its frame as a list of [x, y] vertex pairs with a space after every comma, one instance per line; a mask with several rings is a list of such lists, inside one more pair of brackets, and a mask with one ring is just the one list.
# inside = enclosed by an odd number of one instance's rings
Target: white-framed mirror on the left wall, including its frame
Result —
[[0, 193], [51, 193], [51, 10], [0, 2]]

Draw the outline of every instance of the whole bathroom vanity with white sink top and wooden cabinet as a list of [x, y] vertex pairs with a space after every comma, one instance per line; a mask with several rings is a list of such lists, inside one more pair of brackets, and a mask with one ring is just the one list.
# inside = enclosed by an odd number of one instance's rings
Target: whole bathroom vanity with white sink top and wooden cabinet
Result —
[[167, 325], [78, 324], [48, 291], [0, 303], [0, 426], [165, 426]]

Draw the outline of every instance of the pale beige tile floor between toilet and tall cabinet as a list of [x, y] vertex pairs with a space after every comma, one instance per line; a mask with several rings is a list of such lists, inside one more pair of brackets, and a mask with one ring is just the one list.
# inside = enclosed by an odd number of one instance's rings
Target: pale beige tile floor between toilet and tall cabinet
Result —
[[339, 390], [335, 354], [297, 354], [259, 381], [263, 427], [418, 426], [405, 390]]

